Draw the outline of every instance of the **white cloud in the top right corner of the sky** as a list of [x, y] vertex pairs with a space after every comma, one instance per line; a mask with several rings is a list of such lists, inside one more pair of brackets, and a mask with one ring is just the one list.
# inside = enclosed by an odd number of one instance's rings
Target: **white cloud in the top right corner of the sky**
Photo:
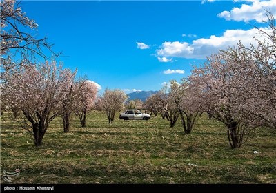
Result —
[[276, 16], [276, 1], [248, 1], [248, 4], [242, 4], [240, 8], [233, 8], [230, 11], [224, 11], [217, 14], [218, 17], [224, 18], [226, 20], [234, 21], [244, 21], [248, 22], [255, 20], [259, 23], [262, 21], [267, 21], [266, 11], [271, 10], [273, 15]]

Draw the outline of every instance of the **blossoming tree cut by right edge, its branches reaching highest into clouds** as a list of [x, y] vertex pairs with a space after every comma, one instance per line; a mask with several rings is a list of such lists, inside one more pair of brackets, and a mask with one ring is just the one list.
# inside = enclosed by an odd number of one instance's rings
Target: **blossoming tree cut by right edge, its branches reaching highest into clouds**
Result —
[[255, 38], [257, 46], [246, 48], [239, 43], [239, 49], [250, 54], [253, 67], [248, 81], [250, 88], [246, 99], [247, 110], [262, 121], [262, 125], [276, 131], [276, 26], [275, 18], [267, 11], [268, 28], [258, 28], [263, 40]]

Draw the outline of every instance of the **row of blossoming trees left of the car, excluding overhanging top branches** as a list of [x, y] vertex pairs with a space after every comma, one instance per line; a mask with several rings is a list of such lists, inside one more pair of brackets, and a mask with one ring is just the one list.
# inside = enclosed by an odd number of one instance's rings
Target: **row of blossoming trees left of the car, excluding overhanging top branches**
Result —
[[[57, 116], [63, 120], [64, 132], [70, 132], [72, 114], [86, 126], [86, 114], [92, 109], [103, 110], [109, 123], [115, 112], [124, 106], [127, 96], [122, 90], [106, 90], [97, 98], [97, 85], [92, 81], [75, 81], [75, 72], [63, 69], [54, 61], [23, 65], [6, 75], [1, 84], [1, 101], [9, 110], [17, 110], [14, 120], [32, 134], [34, 144], [42, 143], [49, 123]], [[3, 105], [2, 105], [3, 108]]]

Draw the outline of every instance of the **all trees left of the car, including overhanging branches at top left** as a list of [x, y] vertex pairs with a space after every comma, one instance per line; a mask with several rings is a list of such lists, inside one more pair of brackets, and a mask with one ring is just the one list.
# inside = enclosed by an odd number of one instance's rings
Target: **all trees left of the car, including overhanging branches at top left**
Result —
[[[85, 79], [76, 80], [77, 70], [63, 69], [48, 62], [44, 51], [52, 51], [47, 37], [34, 38], [37, 23], [26, 17], [20, 2], [0, 1], [1, 6], [1, 114], [8, 109], [34, 139], [42, 144], [49, 123], [57, 116], [63, 120], [64, 132], [70, 132], [72, 114], [86, 126], [86, 114], [92, 108], [105, 110], [110, 123], [127, 99], [121, 90], [106, 90], [97, 99], [97, 86]], [[26, 30], [26, 31], [23, 31]], [[39, 59], [45, 59], [41, 63]], [[111, 104], [110, 104], [111, 103]]]

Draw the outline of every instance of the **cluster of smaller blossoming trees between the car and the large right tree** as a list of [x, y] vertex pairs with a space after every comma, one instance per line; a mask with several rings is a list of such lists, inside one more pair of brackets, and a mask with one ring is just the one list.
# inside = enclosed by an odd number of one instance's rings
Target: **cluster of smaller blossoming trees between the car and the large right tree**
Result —
[[170, 81], [170, 87], [165, 86], [157, 94], [152, 94], [143, 105], [150, 114], [157, 116], [159, 112], [163, 119], [174, 127], [177, 119], [181, 119], [185, 134], [193, 130], [195, 119], [201, 112], [200, 104], [193, 100], [190, 83], [183, 79], [181, 83]]

